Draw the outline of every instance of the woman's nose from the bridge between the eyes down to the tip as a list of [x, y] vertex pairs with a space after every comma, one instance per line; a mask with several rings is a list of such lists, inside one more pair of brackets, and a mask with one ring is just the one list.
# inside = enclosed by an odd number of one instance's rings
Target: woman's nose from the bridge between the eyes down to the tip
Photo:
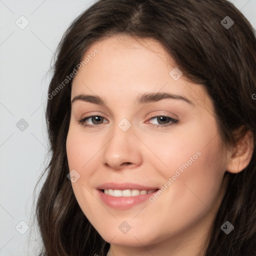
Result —
[[133, 126], [127, 118], [122, 118], [112, 127], [111, 138], [103, 149], [103, 164], [115, 169], [121, 168], [122, 163], [140, 164], [139, 140], [133, 132]]

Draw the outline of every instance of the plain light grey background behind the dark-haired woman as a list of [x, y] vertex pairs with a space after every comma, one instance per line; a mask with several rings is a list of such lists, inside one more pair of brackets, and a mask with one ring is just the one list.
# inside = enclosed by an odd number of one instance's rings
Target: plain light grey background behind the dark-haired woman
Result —
[[[32, 193], [48, 161], [47, 71], [63, 32], [92, 2], [0, 0], [0, 256], [38, 255]], [[231, 2], [256, 28], [256, 0]]]

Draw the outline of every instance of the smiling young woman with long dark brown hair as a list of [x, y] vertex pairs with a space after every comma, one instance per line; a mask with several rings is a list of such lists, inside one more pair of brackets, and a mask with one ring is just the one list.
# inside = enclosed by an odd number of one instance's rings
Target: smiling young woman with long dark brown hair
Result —
[[226, 0], [99, 0], [48, 89], [42, 255], [255, 255], [256, 39]]

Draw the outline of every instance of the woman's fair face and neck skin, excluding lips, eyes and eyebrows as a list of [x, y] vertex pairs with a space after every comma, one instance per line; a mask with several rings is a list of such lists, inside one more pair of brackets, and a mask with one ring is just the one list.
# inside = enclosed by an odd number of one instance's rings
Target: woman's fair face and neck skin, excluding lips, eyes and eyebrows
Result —
[[[72, 183], [77, 202], [110, 243], [109, 256], [197, 255], [225, 192], [225, 171], [244, 168], [248, 154], [235, 158], [232, 150], [219, 150], [220, 136], [206, 90], [184, 76], [175, 81], [169, 75], [175, 63], [158, 42], [113, 36], [93, 44], [84, 57], [95, 48], [98, 54], [72, 81], [71, 99], [83, 93], [106, 101], [72, 103], [66, 153], [69, 170], [80, 174]], [[182, 95], [192, 104], [169, 98], [135, 104], [136, 96], [145, 92]], [[170, 116], [178, 123], [153, 127], [164, 123], [150, 114]], [[102, 116], [101, 123], [91, 118], [86, 124], [97, 126], [78, 123], [90, 115]], [[131, 124], [127, 131], [118, 127], [122, 118]], [[120, 210], [97, 196], [96, 187], [107, 181], [160, 188], [197, 151], [200, 156], [154, 202]], [[118, 229], [123, 221], [131, 227], [125, 234]]]

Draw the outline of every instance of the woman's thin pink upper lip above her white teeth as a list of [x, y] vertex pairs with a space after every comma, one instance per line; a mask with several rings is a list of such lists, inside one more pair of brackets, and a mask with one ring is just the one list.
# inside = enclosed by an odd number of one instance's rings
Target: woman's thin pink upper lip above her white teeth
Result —
[[97, 187], [97, 189], [118, 189], [118, 190], [124, 190], [124, 189], [138, 189], [138, 190], [154, 190], [158, 189], [158, 187], [155, 186], [145, 186], [135, 183], [115, 183], [115, 182], [106, 182]]

